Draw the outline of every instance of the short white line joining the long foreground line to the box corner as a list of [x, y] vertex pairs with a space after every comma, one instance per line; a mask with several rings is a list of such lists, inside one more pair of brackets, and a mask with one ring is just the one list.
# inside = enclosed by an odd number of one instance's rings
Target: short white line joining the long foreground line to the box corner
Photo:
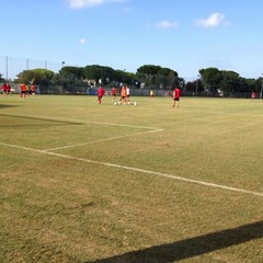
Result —
[[136, 133], [136, 134], [130, 134], [130, 135], [115, 136], [115, 137], [104, 138], [104, 139], [100, 139], [100, 140], [93, 140], [93, 141], [89, 141], [89, 142], [82, 142], [82, 144], [61, 146], [61, 147], [56, 147], [56, 148], [50, 148], [50, 149], [44, 149], [43, 151], [55, 151], [55, 150], [61, 150], [61, 149], [67, 149], [67, 148], [72, 148], [72, 147], [81, 147], [81, 146], [93, 145], [93, 144], [103, 142], [103, 141], [111, 141], [111, 140], [115, 140], [115, 139], [134, 137], [134, 136], [138, 136], [138, 135], [158, 133], [158, 132], [162, 132], [162, 130], [163, 129], [153, 129], [153, 130], [141, 132], [141, 133]]

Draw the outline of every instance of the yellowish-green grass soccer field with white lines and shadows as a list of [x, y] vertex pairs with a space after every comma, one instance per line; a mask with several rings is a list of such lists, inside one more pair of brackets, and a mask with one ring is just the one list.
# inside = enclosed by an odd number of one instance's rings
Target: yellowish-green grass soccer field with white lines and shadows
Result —
[[263, 262], [263, 102], [0, 96], [0, 262]]

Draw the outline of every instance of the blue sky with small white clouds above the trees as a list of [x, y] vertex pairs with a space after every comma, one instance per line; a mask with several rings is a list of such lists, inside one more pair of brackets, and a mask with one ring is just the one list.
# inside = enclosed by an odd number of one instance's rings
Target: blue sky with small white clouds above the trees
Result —
[[129, 72], [151, 64], [186, 80], [208, 67], [263, 73], [262, 0], [1, 0], [1, 11], [3, 75], [7, 56], [9, 76], [20, 59], [54, 71], [62, 61]]

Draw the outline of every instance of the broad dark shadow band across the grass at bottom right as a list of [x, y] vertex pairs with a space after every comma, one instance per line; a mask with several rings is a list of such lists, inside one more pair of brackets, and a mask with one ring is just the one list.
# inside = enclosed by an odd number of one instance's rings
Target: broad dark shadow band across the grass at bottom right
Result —
[[[161, 244], [108, 259], [96, 260], [93, 261], [93, 263], [176, 262], [261, 238], [263, 238], [263, 221], [258, 221], [232, 229], [188, 238], [173, 243]], [[263, 252], [261, 251], [260, 253]]]

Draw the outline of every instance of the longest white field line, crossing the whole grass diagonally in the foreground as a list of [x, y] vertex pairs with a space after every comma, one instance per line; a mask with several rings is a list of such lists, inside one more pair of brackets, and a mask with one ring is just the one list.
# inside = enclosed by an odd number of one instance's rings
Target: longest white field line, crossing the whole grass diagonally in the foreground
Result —
[[56, 153], [56, 152], [48, 152], [45, 150], [37, 150], [37, 149], [16, 146], [16, 145], [9, 145], [9, 144], [3, 144], [3, 142], [0, 142], [0, 145], [5, 146], [5, 147], [22, 149], [22, 150], [60, 157], [60, 158], [70, 159], [70, 160], [75, 160], [75, 161], [87, 162], [87, 163], [92, 163], [92, 164], [100, 164], [100, 165], [104, 165], [104, 167], [111, 167], [111, 168], [123, 169], [123, 170], [129, 170], [129, 171], [139, 172], [139, 173], [152, 174], [152, 175], [158, 175], [158, 176], [168, 178], [168, 179], [172, 179], [172, 180], [183, 181], [186, 183], [199, 184], [199, 185], [205, 185], [208, 187], [222, 188], [226, 191], [239, 192], [239, 193], [243, 193], [243, 194], [250, 194], [250, 195], [263, 197], [262, 192], [253, 192], [253, 191], [249, 191], [249, 190], [244, 190], [244, 188], [237, 188], [237, 187], [231, 187], [231, 186], [221, 185], [221, 184], [215, 184], [215, 183], [208, 183], [208, 182], [198, 181], [198, 180], [186, 179], [186, 178], [176, 176], [176, 175], [169, 174], [169, 173], [155, 172], [155, 171], [149, 171], [149, 170], [145, 170], [145, 169], [126, 167], [126, 165], [121, 165], [121, 164], [115, 164], [115, 163], [110, 163], [110, 162], [94, 161], [94, 160], [89, 160], [89, 159], [84, 159], [84, 158], [77, 158], [77, 157], [66, 156], [66, 155]]

